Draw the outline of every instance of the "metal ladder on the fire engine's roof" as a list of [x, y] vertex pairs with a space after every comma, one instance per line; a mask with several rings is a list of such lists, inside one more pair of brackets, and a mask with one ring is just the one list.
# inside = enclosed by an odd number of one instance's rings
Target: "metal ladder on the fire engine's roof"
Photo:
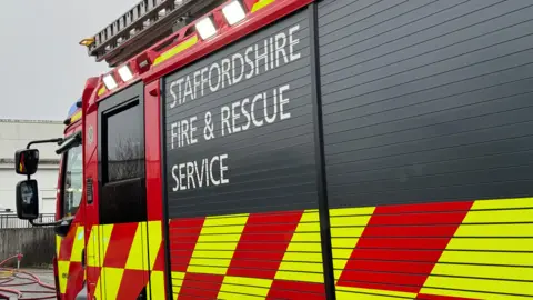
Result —
[[142, 0], [80, 44], [90, 57], [110, 67], [131, 59], [214, 9], [223, 0]]

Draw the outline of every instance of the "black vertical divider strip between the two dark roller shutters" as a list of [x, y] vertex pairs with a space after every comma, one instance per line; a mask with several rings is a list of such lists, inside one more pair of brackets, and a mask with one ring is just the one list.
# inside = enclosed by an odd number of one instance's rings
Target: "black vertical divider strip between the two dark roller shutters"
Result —
[[326, 299], [335, 300], [335, 280], [333, 276], [333, 256], [331, 246], [330, 210], [328, 204], [328, 180], [325, 177], [324, 134], [322, 121], [322, 90], [320, 80], [320, 44], [319, 44], [318, 4], [309, 6], [309, 27], [311, 43], [311, 94], [314, 118], [314, 144], [316, 160], [316, 188], [319, 196], [320, 237], [322, 246], [322, 263], [324, 268], [324, 286]]

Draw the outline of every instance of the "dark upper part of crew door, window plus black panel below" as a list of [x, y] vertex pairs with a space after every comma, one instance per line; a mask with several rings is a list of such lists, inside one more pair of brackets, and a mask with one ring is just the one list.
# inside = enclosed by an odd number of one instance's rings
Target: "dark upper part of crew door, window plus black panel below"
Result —
[[142, 222], [148, 218], [140, 88], [130, 88], [99, 107], [101, 224]]

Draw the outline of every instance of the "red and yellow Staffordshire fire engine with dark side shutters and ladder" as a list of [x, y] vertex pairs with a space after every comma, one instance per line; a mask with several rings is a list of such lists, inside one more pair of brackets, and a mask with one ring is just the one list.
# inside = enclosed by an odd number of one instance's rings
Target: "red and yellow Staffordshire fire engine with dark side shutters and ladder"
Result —
[[112, 70], [16, 153], [58, 299], [533, 297], [532, 2], [143, 0], [81, 43]]

